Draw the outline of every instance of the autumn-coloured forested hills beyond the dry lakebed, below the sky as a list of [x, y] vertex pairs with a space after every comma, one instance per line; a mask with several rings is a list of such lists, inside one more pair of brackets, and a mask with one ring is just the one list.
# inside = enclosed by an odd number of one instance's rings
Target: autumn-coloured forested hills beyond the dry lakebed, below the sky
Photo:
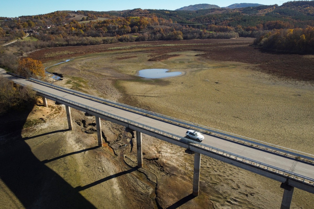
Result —
[[[196, 11], [140, 8], [108, 12], [56, 11], [19, 18], [1, 17], [0, 44], [22, 38], [26, 33], [38, 41], [16, 43], [24, 52], [43, 47], [119, 41], [255, 37], [257, 46], [269, 50], [286, 51], [283, 50], [283, 44], [289, 43], [287, 49], [293, 53], [313, 53], [313, 47], [300, 48], [299, 40], [305, 37], [306, 44], [312, 43], [313, 36], [305, 34], [312, 31], [312, 26], [314, 1]], [[292, 34], [295, 35], [291, 36], [287, 31], [294, 31]], [[300, 36], [296, 35], [301, 32]], [[286, 35], [289, 38], [285, 38]], [[279, 40], [278, 37], [289, 41], [274, 41]], [[291, 45], [293, 43], [295, 45]], [[276, 47], [277, 45], [280, 46]], [[0, 53], [3, 55], [4, 51]]]

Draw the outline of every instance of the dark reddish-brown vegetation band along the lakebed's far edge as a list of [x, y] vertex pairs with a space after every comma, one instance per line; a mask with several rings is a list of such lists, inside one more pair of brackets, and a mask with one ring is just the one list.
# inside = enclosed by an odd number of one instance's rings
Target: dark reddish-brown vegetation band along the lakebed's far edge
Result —
[[[164, 54], [180, 51], [199, 51], [199, 56], [206, 59], [236, 61], [250, 64], [256, 64], [262, 72], [275, 74], [278, 76], [293, 78], [299, 80], [314, 80], [313, 57], [311, 55], [299, 54], [270, 54], [250, 46], [253, 38], [238, 39], [193, 39], [182, 41], [154, 41], [144, 42], [146, 51], [155, 53], [155, 56], [165, 56]], [[143, 43], [124, 43], [123, 46], [134, 46], [133, 50], [143, 50]], [[195, 45], [193, 45], [195, 44]], [[202, 46], [202, 44], [204, 44]], [[141, 45], [141, 46], [139, 46]], [[162, 46], [160, 46], [162, 45]], [[108, 48], [121, 47], [121, 44], [105, 44], [97, 46], [77, 46], [50, 48], [34, 51], [29, 55], [30, 58], [40, 59], [43, 62], [49, 60], [68, 59], [84, 54], [100, 53], [108, 51]], [[136, 46], [139, 46], [138, 49]], [[154, 47], [155, 46], [155, 47]], [[110, 51], [123, 51], [122, 49], [110, 49]], [[62, 53], [63, 51], [71, 52]], [[48, 56], [49, 55], [49, 56]], [[54, 55], [54, 56], [50, 56]]]

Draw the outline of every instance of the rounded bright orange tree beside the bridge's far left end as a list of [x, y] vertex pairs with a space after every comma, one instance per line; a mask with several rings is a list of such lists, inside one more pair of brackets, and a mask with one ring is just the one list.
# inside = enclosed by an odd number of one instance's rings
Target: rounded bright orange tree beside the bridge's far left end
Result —
[[45, 68], [40, 60], [24, 58], [19, 60], [17, 74], [30, 77], [45, 77]]

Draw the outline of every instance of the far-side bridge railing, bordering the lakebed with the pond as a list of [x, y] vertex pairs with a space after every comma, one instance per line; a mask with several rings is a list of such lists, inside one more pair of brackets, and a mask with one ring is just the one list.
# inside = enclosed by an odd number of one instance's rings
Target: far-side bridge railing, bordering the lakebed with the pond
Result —
[[200, 130], [207, 131], [207, 132], [212, 132], [212, 133], [216, 133], [216, 134], [221, 135], [221, 136], [230, 137], [230, 138], [234, 138], [234, 139], [237, 139], [237, 140], [242, 140], [242, 141], [245, 141], [245, 142], [248, 142], [248, 143], [252, 143], [252, 144], [255, 144], [255, 145], [261, 145], [261, 146], [267, 147], [269, 149], [277, 150], [277, 151], [280, 151], [280, 152], [285, 152], [285, 153], [288, 153], [288, 154], [291, 154], [291, 155], [303, 157], [303, 158], [306, 158], [306, 159], [314, 161], [314, 155], [309, 154], [309, 153], [301, 152], [301, 151], [298, 151], [298, 150], [293, 150], [293, 149], [282, 147], [282, 146], [275, 145], [275, 144], [270, 144], [270, 143], [267, 143], [267, 142], [264, 142], [264, 141], [260, 141], [260, 140], [248, 138], [248, 137], [245, 137], [245, 136], [233, 134], [233, 133], [230, 133], [230, 132], [226, 132], [226, 131], [223, 131], [223, 130], [211, 128], [211, 127], [208, 127], [208, 126], [199, 125], [199, 124], [192, 123], [192, 122], [189, 122], [189, 121], [186, 121], [186, 120], [181, 120], [181, 119], [170, 117], [170, 116], [167, 116], [167, 115], [162, 115], [162, 114], [155, 113], [155, 112], [152, 112], [152, 111], [149, 111], [149, 110], [144, 110], [144, 109], [141, 109], [141, 108], [138, 108], [138, 107], [133, 107], [131, 105], [122, 104], [122, 103], [119, 103], [119, 102], [111, 101], [109, 99], [104, 99], [104, 98], [97, 97], [97, 96], [94, 96], [94, 95], [84, 94], [84, 93], [76, 91], [76, 90], [64, 88], [62, 86], [50, 84], [50, 83], [47, 83], [47, 82], [44, 82], [44, 81], [41, 81], [41, 80], [37, 80], [37, 79], [33, 79], [33, 78], [29, 78], [29, 80], [32, 80], [32, 81], [35, 81], [35, 82], [39, 82], [39, 83], [43, 83], [43, 84], [49, 85], [49, 86], [51, 86], [53, 88], [62, 89], [64, 91], [66, 91], [66, 92], [73, 92], [73, 93], [76, 93], [76, 94], [88, 96], [90, 98], [93, 98], [93, 99], [96, 99], [96, 100], [99, 100], [99, 101], [103, 101], [103, 102], [106, 102], [106, 103], [109, 103], [109, 104], [118, 105], [118, 106], [121, 106], [123, 108], [128, 108], [128, 109], [135, 110], [135, 111], [138, 111], [138, 112], [142, 112], [142, 113], [145, 113], [145, 114], [149, 114], [149, 115], [152, 115], [152, 116], [157, 116], [157, 117], [162, 118], [162, 119], [171, 120], [173, 122], [181, 123], [181, 124], [187, 125], [187, 126], [192, 126], [192, 127], [195, 127], [195, 128], [200, 129]]

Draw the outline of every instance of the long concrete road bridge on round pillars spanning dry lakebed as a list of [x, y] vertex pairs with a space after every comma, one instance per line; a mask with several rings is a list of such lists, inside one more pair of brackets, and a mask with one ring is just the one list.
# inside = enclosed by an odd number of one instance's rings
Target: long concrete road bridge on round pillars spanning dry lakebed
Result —
[[[194, 196], [198, 196], [199, 193], [201, 155], [282, 182], [280, 187], [284, 189], [284, 194], [281, 209], [290, 208], [295, 187], [314, 194], [313, 155], [269, 145], [43, 81], [17, 78], [4, 71], [0, 71], [0, 74], [15, 83], [33, 88], [42, 96], [45, 107], [47, 107], [46, 99], [65, 105], [69, 130], [73, 127], [70, 107], [94, 115], [99, 146], [102, 146], [100, 119], [123, 125], [129, 131], [136, 131], [138, 167], [143, 165], [142, 133], [186, 148], [186, 153], [194, 155], [192, 188]], [[187, 129], [201, 132], [205, 137], [202, 143], [185, 138]]]

